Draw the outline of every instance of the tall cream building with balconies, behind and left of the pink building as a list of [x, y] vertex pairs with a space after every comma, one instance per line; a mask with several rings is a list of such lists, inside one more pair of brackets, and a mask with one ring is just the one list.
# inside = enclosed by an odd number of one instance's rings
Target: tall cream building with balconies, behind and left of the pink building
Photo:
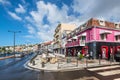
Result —
[[72, 31], [75, 29], [75, 25], [72, 24], [59, 24], [55, 29], [54, 33], [54, 53], [64, 53], [63, 45], [62, 45], [62, 36], [63, 33], [68, 30]]

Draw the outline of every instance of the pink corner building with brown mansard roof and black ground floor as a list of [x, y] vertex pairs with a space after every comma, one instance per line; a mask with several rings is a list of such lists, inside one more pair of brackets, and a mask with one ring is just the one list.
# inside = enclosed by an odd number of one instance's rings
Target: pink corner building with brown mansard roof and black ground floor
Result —
[[120, 24], [91, 18], [67, 35], [66, 55], [93, 52], [94, 58], [109, 59], [120, 49]]

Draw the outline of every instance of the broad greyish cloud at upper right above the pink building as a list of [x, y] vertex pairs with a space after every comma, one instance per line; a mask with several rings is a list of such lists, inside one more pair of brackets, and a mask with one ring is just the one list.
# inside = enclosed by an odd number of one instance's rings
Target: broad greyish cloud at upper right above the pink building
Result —
[[119, 0], [74, 0], [72, 8], [82, 14], [81, 21], [91, 17], [102, 17], [109, 21], [112, 17], [114, 21], [120, 21]]

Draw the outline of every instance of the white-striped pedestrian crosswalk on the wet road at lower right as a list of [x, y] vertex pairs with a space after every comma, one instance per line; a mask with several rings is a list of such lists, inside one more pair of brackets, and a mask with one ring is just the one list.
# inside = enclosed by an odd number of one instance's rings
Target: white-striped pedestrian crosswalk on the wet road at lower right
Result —
[[109, 65], [95, 68], [88, 68], [90, 72], [94, 72], [103, 78], [110, 78], [110, 80], [120, 80], [120, 65]]

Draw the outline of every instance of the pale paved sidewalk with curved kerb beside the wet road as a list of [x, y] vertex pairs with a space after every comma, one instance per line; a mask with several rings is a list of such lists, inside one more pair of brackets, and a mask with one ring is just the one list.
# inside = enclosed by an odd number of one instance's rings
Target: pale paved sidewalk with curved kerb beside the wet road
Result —
[[[54, 56], [53, 54], [50, 54], [50, 56]], [[34, 59], [34, 63], [27, 63], [27, 66], [30, 69], [37, 69], [37, 70], [45, 70], [45, 71], [71, 71], [71, 70], [79, 70], [79, 69], [84, 69], [88, 67], [97, 67], [97, 66], [105, 66], [105, 65], [114, 65], [114, 64], [119, 64], [118, 62], [112, 62], [106, 61], [106, 60], [101, 60], [101, 63], [99, 64], [99, 60], [87, 60], [86, 59], [80, 61], [73, 61], [73, 62], [66, 62], [66, 58], [62, 57], [61, 55], [56, 55], [56, 57], [59, 59], [61, 57], [62, 61], [57, 61], [56, 63], [52, 64], [50, 62], [47, 62], [44, 67], [42, 67], [42, 61], [41, 61], [41, 55], [38, 55]]]

